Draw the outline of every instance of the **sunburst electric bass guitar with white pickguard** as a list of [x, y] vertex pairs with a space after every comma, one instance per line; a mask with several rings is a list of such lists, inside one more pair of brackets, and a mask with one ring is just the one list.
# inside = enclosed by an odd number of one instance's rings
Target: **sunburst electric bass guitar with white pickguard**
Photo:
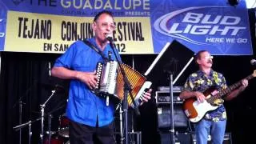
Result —
[[[250, 80], [255, 76], [256, 70], [254, 70], [254, 74], [250, 74], [245, 79]], [[190, 122], [199, 122], [208, 111], [218, 108], [218, 106], [214, 104], [216, 99], [222, 98], [232, 90], [238, 88], [238, 86], [241, 86], [241, 81], [236, 82], [226, 89], [220, 91], [210, 87], [210, 89], [203, 92], [203, 94], [206, 96], [206, 100], [204, 102], [198, 102], [196, 98], [187, 98], [182, 104], [182, 109], [184, 110], [186, 117], [189, 118]]]

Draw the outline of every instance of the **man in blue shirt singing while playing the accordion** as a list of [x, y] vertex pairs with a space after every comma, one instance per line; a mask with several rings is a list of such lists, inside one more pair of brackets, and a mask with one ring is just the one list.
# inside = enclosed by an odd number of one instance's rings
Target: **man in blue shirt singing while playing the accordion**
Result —
[[[120, 61], [114, 56], [106, 35], [113, 34], [115, 29], [113, 15], [106, 10], [94, 17], [92, 25], [94, 38], [87, 41], [95, 46], [102, 55]], [[86, 45], [85, 42], [74, 42], [64, 54], [57, 58], [51, 74], [54, 77], [70, 79], [69, 101], [66, 116], [70, 119], [70, 143], [94, 143], [93, 135], [106, 144], [115, 143], [114, 138], [114, 104], [106, 105], [106, 98], [97, 96], [93, 90], [97, 86], [96, 66], [104, 62], [101, 54]], [[142, 101], [150, 99], [151, 90], [143, 93]]]

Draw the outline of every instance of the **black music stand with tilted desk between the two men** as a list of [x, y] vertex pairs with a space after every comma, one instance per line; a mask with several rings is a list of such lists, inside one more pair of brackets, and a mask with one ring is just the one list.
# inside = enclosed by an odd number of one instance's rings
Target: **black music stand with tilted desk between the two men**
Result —
[[[170, 88], [170, 141], [172, 144], [175, 143], [173, 86], [193, 59], [194, 52], [174, 40], [166, 43], [144, 74], [150, 82], [153, 82], [154, 89], [160, 85], [159, 82]], [[173, 78], [175, 78], [174, 81]]]

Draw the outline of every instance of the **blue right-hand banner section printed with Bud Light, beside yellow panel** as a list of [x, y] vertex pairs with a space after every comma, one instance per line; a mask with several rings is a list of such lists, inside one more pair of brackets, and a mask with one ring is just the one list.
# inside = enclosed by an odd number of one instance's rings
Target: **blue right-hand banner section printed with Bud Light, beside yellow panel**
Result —
[[246, 2], [230, 6], [225, 0], [152, 2], [154, 52], [177, 39], [193, 50], [211, 54], [253, 54]]

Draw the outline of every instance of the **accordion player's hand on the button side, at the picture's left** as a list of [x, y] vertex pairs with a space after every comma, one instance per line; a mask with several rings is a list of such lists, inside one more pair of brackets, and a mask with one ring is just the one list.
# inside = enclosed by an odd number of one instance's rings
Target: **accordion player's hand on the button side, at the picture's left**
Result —
[[96, 71], [94, 72], [82, 72], [78, 71], [77, 78], [86, 83], [90, 90], [94, 89], [97, 86], [97, 76]]

